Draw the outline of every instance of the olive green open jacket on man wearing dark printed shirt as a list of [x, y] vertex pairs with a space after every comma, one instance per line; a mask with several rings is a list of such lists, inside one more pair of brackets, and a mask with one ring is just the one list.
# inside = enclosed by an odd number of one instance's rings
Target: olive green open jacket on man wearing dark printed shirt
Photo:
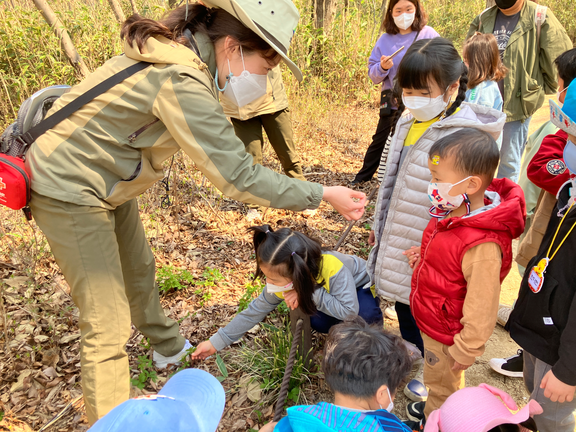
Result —
[[[497, 6], [492, 6], [474, 18], [466, 39], [476, 31], [492, 33]], [[535, 24], [536, 3], [526, 0], [520, 19], [504, 51], [504, 65], [510, 69], [504, 78], [504, 108], [506, 122], [527, 119], [544, 103], [544, 94], [558, 89], [554, 60], [572, 48], [572, 42], [550, 7], [540, 29], [540, 53], [537, 51]], [[482, 28], [478, 28], [482, 16]]]

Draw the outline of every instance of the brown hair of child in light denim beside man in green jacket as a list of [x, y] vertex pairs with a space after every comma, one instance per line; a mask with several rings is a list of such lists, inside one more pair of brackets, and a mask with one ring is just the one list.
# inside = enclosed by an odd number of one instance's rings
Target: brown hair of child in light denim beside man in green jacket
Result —
[[475, 88], [483, 81], [500, 81], [508, 73], [502, 64], [498, 43], [492, 33], [476, 32], [463, 48], [464, 61], [468, 63], [468, 88]]

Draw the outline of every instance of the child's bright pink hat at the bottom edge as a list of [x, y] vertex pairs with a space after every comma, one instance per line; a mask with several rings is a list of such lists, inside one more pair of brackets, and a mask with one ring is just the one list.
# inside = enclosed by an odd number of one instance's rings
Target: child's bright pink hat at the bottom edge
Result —
[[[430, 413], [424, 432], [488, 432], [504, 424], [536, 431], [535, 423], [526, 422], [530, 416], [542, 412], [535, 400], [530, 400], [516, 414], [510, 410], [516, 411], [518, 406], [505, 391], [484, 383], [466, 387], [452, 393], [438, 410]], [[519, 431], [526, 429], [518, 427]]]

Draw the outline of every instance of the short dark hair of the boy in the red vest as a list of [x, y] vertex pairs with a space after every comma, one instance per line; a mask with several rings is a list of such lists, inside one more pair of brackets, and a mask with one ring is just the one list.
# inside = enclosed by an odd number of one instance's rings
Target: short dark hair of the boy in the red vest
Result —
[[440, 138], [432, 145], [428, 156], [430, 159], [453, 157], [454, 169], [467, 176], [482, 177], [485, 187], [494, 179], [500, 161], [498, 145], [492, 135], [475, 127], [466, 127]]

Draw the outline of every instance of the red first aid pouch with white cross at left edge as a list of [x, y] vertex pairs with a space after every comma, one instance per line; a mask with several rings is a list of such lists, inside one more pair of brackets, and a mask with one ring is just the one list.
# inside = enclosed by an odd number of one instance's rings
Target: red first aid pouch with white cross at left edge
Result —
[[29, 200], [30, 176], [24, 168], [24, 161], [0, 153], [0, 204], [20, 210], [26, 207]]

